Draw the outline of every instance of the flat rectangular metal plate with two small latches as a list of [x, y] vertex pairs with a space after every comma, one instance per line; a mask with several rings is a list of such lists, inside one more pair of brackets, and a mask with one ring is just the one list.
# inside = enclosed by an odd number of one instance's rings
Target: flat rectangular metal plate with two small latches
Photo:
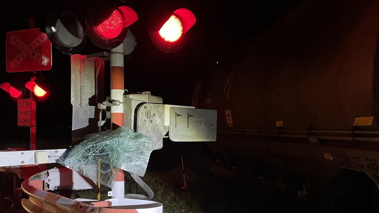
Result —
[[172, 141], [216, 141], [217, 111], [170, 108], [169, 137]]

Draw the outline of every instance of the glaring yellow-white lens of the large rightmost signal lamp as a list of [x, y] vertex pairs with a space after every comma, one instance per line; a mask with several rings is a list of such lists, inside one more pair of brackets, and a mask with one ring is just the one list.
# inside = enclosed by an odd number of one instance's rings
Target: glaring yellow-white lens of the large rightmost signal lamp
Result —
[[182, 22], [178, 17], [171, 15], [171, 17], [163, 24], [158, 33], [164, 41], [178, 41], [183, 34]]

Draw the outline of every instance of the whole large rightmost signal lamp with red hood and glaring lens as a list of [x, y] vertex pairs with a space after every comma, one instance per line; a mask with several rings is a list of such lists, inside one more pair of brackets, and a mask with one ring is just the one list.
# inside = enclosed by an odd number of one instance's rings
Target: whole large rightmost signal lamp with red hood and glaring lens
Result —
[[[157, 22], [158, 20], [158, 22]], [[186, 43], [184, 33], [196, 22], [194, 14], [185, 8], [160, 17], [151, 17], [149, 36], [153, 44], [163, 52], [174, 53], [182, 49]]]

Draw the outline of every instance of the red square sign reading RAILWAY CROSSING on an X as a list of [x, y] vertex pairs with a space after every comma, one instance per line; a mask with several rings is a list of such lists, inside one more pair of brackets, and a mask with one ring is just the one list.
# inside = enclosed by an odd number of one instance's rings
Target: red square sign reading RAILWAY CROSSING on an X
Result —
[[51, 42], [38, 28], [6, 34], [6, 71], [26, 72], [50, 70]]

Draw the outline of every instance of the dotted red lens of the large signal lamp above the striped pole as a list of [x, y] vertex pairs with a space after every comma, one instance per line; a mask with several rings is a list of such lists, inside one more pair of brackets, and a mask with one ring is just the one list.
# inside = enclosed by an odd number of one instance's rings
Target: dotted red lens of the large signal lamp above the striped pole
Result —
[[116, 9], [111, 17], [96, 27], [97, 32], [105, 38], [114, 38], [122, 31], [122, 16]]

